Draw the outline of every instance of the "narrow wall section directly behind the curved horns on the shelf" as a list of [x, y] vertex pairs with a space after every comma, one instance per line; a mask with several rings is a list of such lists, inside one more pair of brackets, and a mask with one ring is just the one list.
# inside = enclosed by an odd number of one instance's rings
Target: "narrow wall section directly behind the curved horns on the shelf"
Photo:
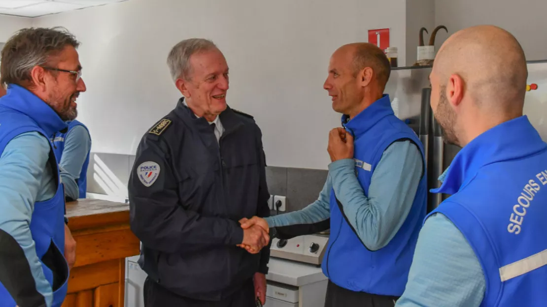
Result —
[[[411, 66], [417, 60], [417, 46], [422, 27], [426, 27], [429, 33], [436, 27], [435, 0], [406, 1], [406, 64], [408, 66]], [[441, 38], [441, 36], [443, 34], [439, 32], [438, 37]], [[423, 41], [425, 45], [428, 44], [429, 35], [427, 33], [423, 33]]]

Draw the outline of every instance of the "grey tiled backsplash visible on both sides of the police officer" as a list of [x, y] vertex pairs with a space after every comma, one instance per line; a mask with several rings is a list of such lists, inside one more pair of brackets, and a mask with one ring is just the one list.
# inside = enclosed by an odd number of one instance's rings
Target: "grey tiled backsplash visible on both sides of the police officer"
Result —
[[[129, 173], [135, 162], [135, 156], [91, 153], [88, 168], [88, 192], [107, 194], [101, 186], [105, 184], [110, 190], [127, 193]], [[321, 192], [327, 170], [266, 167], [266, 181], [272, 195], [287, 197], [287, 211], [304, 208], [314, 202]], [[97, 182], [95, 177], [101, 180]], [[121, 191], [121, 192], [120, 192]]]

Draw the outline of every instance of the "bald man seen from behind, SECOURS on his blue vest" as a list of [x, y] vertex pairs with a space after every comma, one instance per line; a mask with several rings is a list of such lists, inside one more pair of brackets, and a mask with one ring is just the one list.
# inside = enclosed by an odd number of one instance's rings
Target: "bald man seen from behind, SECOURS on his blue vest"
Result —
[[439, 49], [431, 107], [462, 147], [434, 193], [397, 306], [545, 306], [547, 144], [523, 115], [528, 70], [509, 32], [477, 26]]

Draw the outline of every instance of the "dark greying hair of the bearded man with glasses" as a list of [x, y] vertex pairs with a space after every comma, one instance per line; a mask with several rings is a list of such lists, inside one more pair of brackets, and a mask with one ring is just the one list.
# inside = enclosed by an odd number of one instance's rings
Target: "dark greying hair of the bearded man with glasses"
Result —
[[80, 43], [63, 27], [24, 28], [9, 38], [2, 48], [0, 84], [31, 81], [35, 66], [44, 66], [66, 46], [78, 48]]

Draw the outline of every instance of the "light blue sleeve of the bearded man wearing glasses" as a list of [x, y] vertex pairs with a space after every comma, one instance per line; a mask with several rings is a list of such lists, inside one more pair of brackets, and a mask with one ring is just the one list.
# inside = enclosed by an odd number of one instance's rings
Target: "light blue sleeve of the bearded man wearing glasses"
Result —
[[5, 146], [0, 156], [0, 229], [10, 234], [25, 252], [36, 289], [51, 306], [53, 292], [45, 279], [29, 228], [34, 203], [55, 196], [49, 152], [48, 139], [38, 132], [20, 134]]

